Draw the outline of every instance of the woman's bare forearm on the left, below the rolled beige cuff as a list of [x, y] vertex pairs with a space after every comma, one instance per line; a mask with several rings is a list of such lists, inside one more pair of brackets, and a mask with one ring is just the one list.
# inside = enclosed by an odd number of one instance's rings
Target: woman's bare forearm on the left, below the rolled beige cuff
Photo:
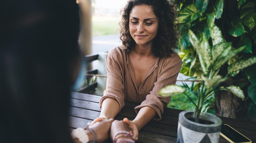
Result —
[[107, 98], [102, 102], [99, 116], [106, 116], [108, 119], [115, 118], [119, 110], [120, 106], [117, 101], [111, 98]]

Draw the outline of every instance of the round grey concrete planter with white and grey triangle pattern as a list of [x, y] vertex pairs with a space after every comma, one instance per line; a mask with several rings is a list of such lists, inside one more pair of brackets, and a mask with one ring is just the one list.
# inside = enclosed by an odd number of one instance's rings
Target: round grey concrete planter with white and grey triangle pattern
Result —
[[182, 111], [179, 114], [177, 143], [218, 143], [222, 120], [210, 113], [201, 113], [199, 119], [211, 121], [213, 124], [196, 123], [193, 111]]

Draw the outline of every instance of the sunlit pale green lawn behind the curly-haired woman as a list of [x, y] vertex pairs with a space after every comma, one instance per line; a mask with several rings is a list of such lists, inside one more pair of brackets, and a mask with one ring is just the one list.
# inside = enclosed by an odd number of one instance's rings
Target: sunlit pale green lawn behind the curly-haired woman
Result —
[[112, 17], [93, 16], [92, 17], [93, 36], [118, 34], [120, 20], [121, 18], [113, 17], [113, 16]]

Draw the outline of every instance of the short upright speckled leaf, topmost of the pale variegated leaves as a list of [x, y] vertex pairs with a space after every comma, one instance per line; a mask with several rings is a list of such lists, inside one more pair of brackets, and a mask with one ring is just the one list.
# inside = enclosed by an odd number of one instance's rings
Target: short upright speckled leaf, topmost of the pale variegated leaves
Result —
[[222, 32], [221, 32], [220, 28], [216, 25], [213, 25], [210, 36], [212, 38], [213, 46], [225, 41], [222, 36]]

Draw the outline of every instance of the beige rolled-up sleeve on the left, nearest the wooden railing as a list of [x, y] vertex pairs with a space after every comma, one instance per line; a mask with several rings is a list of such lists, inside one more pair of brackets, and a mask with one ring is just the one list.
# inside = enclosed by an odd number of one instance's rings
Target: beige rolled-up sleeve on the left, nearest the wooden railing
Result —
[[100, 108], [102, 102], [107, 98], [116, 100], [120, 110], [124, 107], [124, 73], [122, 71], [122, 63], [120, 63], [122, 61], [117, 59], [117, 52], [117, 50], [112, 49], [106, 55], [107, 84], [106, 90], [103, 92], [104, 95], [99, 101]]

